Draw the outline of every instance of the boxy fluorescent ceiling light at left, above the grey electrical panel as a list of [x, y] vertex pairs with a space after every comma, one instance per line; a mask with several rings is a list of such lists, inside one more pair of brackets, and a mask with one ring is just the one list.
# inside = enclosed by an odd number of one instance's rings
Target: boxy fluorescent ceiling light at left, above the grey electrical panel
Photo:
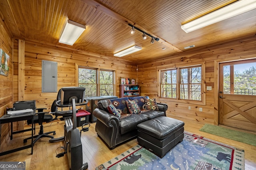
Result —
[[86, 29], [85, 25], [68, 20], [60, 36], [60, 43], [73, 45]]

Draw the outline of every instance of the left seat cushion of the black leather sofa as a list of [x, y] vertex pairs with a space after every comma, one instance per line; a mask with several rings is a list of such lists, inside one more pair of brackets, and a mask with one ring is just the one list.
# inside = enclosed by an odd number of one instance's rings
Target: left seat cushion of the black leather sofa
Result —
[[146, 117], [142, 115], [133, 114], [125, 119], [120, 119], [119, 126], [120, 126], [120, 133], [124, 134], [129, 131], [136, 129], [137, 125], [141, 122], [148, 120]]

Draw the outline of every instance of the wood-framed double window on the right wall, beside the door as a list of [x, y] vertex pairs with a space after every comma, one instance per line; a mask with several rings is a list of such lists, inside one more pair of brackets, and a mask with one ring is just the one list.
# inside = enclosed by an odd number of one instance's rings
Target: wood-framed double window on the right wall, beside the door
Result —
[[160, 98], [205, 102], [203, 65], [160, 70]]

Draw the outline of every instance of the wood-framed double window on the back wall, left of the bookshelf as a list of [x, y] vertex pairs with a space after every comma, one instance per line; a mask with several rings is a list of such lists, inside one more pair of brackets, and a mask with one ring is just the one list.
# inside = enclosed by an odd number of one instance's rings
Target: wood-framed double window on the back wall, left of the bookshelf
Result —
[[113, 96], [114, 71], [98, 68], [78, 68], [78, 86], [85, 88], [85, 96]]

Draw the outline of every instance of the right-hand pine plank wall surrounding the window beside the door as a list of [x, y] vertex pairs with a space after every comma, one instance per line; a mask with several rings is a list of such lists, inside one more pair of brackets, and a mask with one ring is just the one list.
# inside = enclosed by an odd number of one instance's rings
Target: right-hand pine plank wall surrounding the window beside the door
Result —
[[[218, 63], [252, 58], [256, 58], [256, 35], [210, 47], [191, 49], [184, 53], [138, 64], [140, 94], [168, 104], [167, 115], [170, 117], [182, 117], [203, 123], [218, 124]], [[205, 83], [206, 86], [212, 86], [212, 90], [206, 90], [205, 106], [178, 101], [171, 102], [159, 98], [159, 70], [187, 64], [200, 64], [204, 61], [206, 62]], [[191, 110], [188, 110], [188, 106], [191, 106]], [[199, 111], [199, 107], [203, 108], [202, 112]]]

